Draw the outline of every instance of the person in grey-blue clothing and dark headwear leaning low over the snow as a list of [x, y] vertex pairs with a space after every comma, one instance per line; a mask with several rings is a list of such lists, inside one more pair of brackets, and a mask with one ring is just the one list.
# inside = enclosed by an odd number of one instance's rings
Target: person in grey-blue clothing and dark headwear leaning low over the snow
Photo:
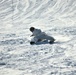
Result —
[[43, 40], [48, 40], [50, 44], [53, 44], [55, 39], [49, 35], [47, 35], [45, 32], [42, 32], [40, 29], [36, 29], [34, 27], [30, 27], [30, 31], [32, 32], [33, 38], [30, 41], [30, 44], [35, 44], [37, 42], [41, 42]]

